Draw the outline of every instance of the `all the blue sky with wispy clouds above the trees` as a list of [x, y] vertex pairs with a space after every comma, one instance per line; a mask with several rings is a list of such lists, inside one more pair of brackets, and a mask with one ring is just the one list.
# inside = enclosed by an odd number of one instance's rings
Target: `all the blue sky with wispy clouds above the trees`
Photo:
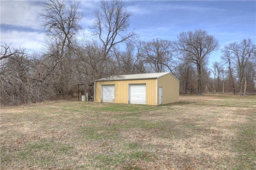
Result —
[[[26, 51], [42, 51], [44, 33], [40, 28], [42, 1], [0, 1], [0, 43], [13, 47], [24, 47]], [[127, 11], [132, 12], [130, 30], [140, 39], [176, 40], [181, 32], [195, 29], [206, 30], [219, 40], [220, 48], [230, 42], [241, 42], [251, 38], [256, 43], [256, 1], [124, 1]], [[100, 7], [100, 1], [81, 1], [85, 17], [80, 24], [79, 35], [89, 40], [93, 23], [93, 11]], [[220, 61], [220, 50], [210, 55], [209, 62]]]

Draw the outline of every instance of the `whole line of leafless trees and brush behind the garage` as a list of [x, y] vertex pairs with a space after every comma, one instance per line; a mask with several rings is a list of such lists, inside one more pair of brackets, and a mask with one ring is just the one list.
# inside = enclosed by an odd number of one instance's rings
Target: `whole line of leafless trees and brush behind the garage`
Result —
[[[129, 32], [132, 13], [118, 0], [102, 1], [90, 26], [94, 39], [78, 39], [84, 14], [80, 2], [42, 2], [45, 46], [26, 53], [1, 45], [1, 104], [18, 105], [72, 97], [78, 83], [110, 75], [170, 71], [180, 80], [180, 93], [255, 93], [256, 46], [251, 39], [225, 45], [220, 62], [208, 68], [219, 42], [206, 30], [182, 32], [177, 40], [142, 41]], [[126, 49], [121, 50], [120, 44]], [[213, 75], [213, 77], [211, 77]], [[93, 92], [92, 86], [81, 87]]]

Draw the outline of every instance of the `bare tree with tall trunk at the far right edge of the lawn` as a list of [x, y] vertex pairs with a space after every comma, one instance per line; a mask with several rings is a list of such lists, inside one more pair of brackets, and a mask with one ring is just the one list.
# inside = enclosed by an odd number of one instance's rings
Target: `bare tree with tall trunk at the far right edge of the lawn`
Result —
[[251, 39], [244, 39], [239, 44], [234, 42], [226, 45], [224, 49], [222, 49], [222, 52], [224, 53], [222, 59], [230, 61], [229, 63], [234, 63], [234, 67], [236, 67], [240, 96], [246, 96], [246, 68], [250, 62], [255, 62], [256, 45], [252, 44]]

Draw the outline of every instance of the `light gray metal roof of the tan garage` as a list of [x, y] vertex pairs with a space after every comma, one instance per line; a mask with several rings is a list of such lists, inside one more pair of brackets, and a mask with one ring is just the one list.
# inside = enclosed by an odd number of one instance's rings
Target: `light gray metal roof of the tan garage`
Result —
[[95, 81], [114, 81], [114, 80], [137, 80], [137, 79], [158, 79], [164, 75], [171, 74], [170, 72], [162, 73], [142, 73], [142, 74], [128, 74], [128, 75], [113, 75], [110, 77], [98, 79]]

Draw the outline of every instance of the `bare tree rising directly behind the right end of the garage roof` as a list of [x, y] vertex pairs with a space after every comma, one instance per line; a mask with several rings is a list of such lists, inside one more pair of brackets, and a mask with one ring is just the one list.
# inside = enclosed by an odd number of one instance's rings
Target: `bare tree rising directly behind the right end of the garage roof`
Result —
[[171, 71], [173, 74], [172, 42], [168, 40], [151, 40], [142, 42], [140, 55], [153, 72]]

